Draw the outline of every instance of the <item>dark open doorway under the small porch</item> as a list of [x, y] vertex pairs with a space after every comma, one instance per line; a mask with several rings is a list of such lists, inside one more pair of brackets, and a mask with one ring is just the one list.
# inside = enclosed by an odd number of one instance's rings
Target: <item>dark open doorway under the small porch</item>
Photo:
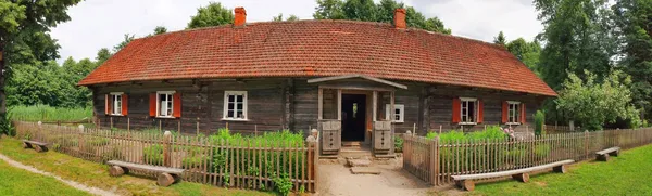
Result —
[[342, 94], [342, 141], [364, 141], [366, 95]]

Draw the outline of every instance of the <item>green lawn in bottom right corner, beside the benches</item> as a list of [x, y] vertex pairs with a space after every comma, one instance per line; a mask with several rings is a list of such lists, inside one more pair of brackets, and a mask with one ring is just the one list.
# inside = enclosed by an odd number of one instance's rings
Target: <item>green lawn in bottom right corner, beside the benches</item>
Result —
[[609, 162], [574, 165], [569, 172], [532, 175], [530, 182], [513, 180], [476, 184], [469, 195], [650, 195], [652, 145], [622, 152]]

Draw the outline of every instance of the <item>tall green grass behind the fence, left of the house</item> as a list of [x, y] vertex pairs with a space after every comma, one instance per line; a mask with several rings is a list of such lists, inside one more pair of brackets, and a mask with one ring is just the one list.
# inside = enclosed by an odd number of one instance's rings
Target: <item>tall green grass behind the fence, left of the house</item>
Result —
[[13, 119], [23, 121], [79, 121], [92, 118], [90, 107], [62, 108], [48, 105], [20, 105], [11, 107], [10, 113]]

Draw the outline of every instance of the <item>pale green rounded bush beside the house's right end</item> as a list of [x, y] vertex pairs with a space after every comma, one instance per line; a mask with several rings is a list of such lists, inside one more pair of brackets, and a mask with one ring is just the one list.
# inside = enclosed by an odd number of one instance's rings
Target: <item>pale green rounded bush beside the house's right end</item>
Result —
[[615, 122], [618, 118], [640, 125], [627, 88], [631, 82], [628, 76], [614, 71], [603, 82], [595, 81], [595, 75], [590, 71], [586, 71], [585, 76], [587, 79], [582, 80], [569, 74], [556, 100], [559, 110], [589, 130], [600, 130], [605, 122]]

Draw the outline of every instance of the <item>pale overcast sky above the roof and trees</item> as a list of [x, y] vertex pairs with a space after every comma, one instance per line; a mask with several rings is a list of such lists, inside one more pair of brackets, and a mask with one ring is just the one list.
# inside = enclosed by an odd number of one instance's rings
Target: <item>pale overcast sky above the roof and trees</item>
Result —
[[[120, 43], [125, 34], [136, 37], [151, 34], [156, 26], [168, 31], [181, 30], [211, 0], [87, 0], [68, 10], [72, 21], [52, 29], [61, 44], [61, 63], [95, 58], [101, 48]], [[214, 0], [217, 1], [217, 0]], [[377, 0], [379, 1], [379, 0]], [[531, 40], [542, 26], [531, 0], [398, 0], [414, 6], [427, 17], [439, 17], [455, 36], [492, 41], [500, 30], [509, 40]], [[311, 19], [315, 0], [220, 0], [233, 9], [244, 6], [247, 22], [271, 21], [283, 13]]]

